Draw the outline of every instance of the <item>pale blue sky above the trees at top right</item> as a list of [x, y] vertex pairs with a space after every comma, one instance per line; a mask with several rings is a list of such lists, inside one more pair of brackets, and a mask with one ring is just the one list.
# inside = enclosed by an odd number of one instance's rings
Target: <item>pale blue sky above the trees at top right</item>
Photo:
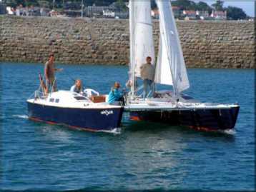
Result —
[[[195, 2], [203, 1], [209, 5], [215, 3], [212, 0], [194, 0]], [[225, 0], [224, 6], [237, 6], [245, 11], [248, 16], [255, 16], [255, 1], [256, 0]]]

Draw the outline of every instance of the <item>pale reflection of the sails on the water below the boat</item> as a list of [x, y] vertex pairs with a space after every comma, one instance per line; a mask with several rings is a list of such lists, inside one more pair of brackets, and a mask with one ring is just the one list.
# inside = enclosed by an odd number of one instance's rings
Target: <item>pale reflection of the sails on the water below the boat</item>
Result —
[[179, 169], [179, 158], [187, 143], [177, 141], [182, 137], [180, 131], [142, 122], [132, 123], [125, 131], [132, 135], [125, 139], [122, 151], [132, 168], [129, 173], [140, 182], [154, 180], [164, 188], [183, 181], [187, 171]]

